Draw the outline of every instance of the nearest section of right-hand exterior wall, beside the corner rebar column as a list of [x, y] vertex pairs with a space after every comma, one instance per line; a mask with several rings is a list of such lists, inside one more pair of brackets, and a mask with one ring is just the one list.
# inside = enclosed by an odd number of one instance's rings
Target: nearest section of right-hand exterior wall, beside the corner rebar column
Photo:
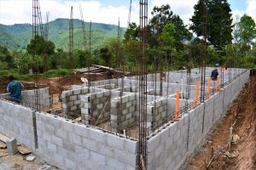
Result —
[[148, 140], [148, 170], [175, 169], [187, 153], [189, 116], [172, 122]]

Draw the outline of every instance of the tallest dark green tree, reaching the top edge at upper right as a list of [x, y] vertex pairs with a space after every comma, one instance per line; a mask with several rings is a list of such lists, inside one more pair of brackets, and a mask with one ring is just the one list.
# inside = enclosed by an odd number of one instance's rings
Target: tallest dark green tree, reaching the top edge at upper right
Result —
[[232, 14], [227, 0], [199, 0], [190, 21], [197, 37], [206, 36], [211, 45], [222, 49], [232, 41]]

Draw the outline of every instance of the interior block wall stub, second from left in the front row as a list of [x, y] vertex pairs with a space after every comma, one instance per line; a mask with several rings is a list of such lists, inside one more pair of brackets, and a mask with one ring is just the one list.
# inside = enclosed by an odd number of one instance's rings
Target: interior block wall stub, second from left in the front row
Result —
[[94, 94], [81, 95], [82, 122], [89, 124], [91, 121], [101, 121], [110, 117], [109, 92], [102, 91]]

